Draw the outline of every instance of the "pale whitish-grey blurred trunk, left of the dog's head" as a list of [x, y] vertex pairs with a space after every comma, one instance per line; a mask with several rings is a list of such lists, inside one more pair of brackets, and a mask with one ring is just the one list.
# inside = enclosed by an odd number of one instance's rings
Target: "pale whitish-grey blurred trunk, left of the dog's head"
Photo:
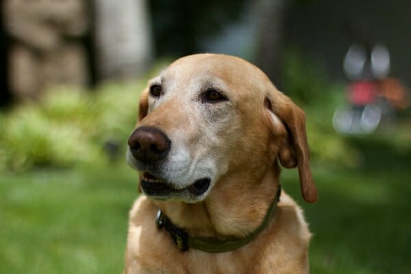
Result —
[[99, 79], [129, 79], [147, 70], [151, 26], [145, 0], [95, 0]]

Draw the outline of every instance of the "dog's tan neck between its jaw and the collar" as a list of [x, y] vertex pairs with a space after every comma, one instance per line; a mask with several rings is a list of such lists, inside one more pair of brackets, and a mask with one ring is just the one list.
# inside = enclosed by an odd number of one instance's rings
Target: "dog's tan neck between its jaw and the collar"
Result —
[[[249, 173], [248, 173], [249, 174]], [[279, 168], [256, 178], [247, 173], [222, 177], [205, 201], [155, 202], [177, 226], [193, 236], [244, 237], [258, 227], [277, 195]]]

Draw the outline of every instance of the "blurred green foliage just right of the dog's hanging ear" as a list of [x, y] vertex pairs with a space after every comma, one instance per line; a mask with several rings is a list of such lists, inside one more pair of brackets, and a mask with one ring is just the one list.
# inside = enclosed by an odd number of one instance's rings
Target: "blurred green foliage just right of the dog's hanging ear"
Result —
[[358, 150], [332, 127], [337, 106], [345, 101], [345, 86], [332, 83], [321, 64], [296, 49], [284, 58], [284, 91], [307, 114], [308, 143], [312, 160], [356, 166], [361, 160]]

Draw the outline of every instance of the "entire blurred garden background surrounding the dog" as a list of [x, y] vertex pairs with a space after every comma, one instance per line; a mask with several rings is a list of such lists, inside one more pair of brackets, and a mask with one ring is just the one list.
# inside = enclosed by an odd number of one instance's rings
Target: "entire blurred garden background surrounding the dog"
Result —
[[258, 65], [308, 116], [312, 273], [411, 273], [411, 2], [3, 0], [0, 273], [121, 273], [138, 97], [201, 52]]

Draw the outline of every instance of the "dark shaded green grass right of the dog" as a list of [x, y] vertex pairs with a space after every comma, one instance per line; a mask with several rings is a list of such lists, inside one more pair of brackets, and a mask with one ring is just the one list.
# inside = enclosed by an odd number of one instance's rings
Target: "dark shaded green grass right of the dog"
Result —
[[300, 198], [296, 171], [283, 173], [314, 233], [312, 273], [411, 273], [411, 153], [383, 140], [351, 142], [364, 155], [362, 166], [314, 166], [316, 205]]

